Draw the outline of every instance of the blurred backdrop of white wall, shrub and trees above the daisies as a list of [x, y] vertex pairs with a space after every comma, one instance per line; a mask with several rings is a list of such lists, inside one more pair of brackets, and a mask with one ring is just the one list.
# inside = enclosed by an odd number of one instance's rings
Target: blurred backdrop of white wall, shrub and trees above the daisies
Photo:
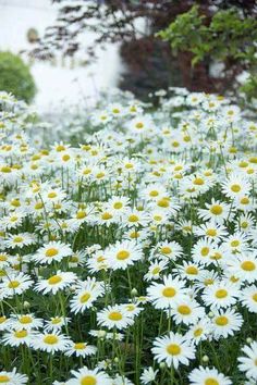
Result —
[[0, 0], [0, 89], [42, 111], [112, 87], [143, 100], [186, 87], [253, 104], [256, 15], [255, 0]]

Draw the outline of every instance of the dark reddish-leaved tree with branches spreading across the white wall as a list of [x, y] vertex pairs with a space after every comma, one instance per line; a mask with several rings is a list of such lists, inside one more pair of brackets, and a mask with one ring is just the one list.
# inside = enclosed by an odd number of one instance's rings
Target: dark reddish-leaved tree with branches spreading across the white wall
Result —
[[[225, 60], [227, 77], [223, 73], [217, 75], [212, 71], [213, 62], [210, 54], [201, 55], [200, 60], [195, 60], [192, 66], [194, 52], [191, 47], [183, 45], [179, 47], [178, 44], [174, 52], [168, 35], [162, 35], [162, 40], [156, 37], [156, 33], [160, 29], [168, 33], [171, 23], [179, 15], [189, 11], [194, 4], [198, 5], [199, 14], [205, 16], [204, 20], [199, 17], [199, 21], [206, 27], [220, 11], [232, 9], [234, 14], [240, 15], [241, 21], [254, 18], [257, 14], [255, 0], [106, 0], [94, 2], [53, 0], [53, 2], [59, 5], [57, 22], [46, 29], [41, 39], [38, 39], [32, 54], [40, 59], [51, 58], [57, 51], [73, 55], [77, 50], [85, 50], [81, 35], [87, 30], [97, 32], [94, 44], [85, 51], [85, 54], [93, 60], [96, 45], [105, 47], [106, 42], [121, 42], [121, 54], [126, 67], [121, 88], [131, 89], [142, 98], [145, 98], [151, 90], [168, 86], [184, 86], [189, 90], [208, 92], [232, 89], [235, 77], [244, 70], [240, 58]], [[229, 22], [231, 17], [230, 14]], [[194, 25], [196, 26], [195, 18]], [[139, 27], [142, 24], [144, 28]], [[220, 27], [225, 27], [228, 39], [230, 39], [229, 32], [231, 26], [233, 27], [232, 24], [225, 25], [225, 17], [223, 24], [220, 24]], [[187, 29], [188, 27], [187, 25]], [[185, 36], [183, 28], [183, 23], [179, 23], [176, 34], [181, 34], [182, 38]], [[228, 39], [222, 44], [228, 45]], [[199, 41], [203, 44], [203, 39]]]

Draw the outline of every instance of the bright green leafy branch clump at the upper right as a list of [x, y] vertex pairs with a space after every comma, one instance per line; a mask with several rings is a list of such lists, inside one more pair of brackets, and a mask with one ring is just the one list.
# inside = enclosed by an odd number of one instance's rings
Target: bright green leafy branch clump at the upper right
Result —
[[[169, 41], [175, 54], [191, 52], [193, 66], [200, 62], [221, 61], [225, 76], [233, 72], [235, 78], [240, 72], [247, 71], [249, 79], [256, 79], [257, 20], [244, 15], [238, 9], [219, 10], [207, 17], [194, 5], [157, 35]], [[249, 97], [257, 98], [257, 89], [250, 82], [240, 91], [250, 89]]]

